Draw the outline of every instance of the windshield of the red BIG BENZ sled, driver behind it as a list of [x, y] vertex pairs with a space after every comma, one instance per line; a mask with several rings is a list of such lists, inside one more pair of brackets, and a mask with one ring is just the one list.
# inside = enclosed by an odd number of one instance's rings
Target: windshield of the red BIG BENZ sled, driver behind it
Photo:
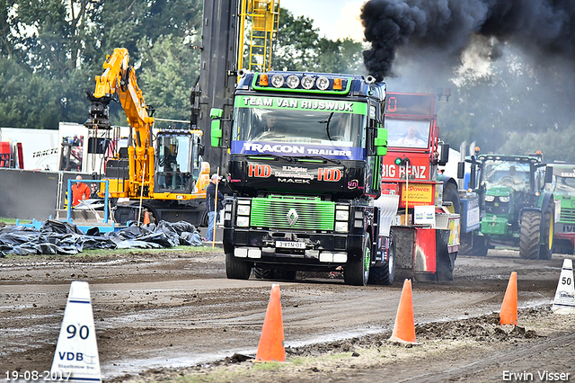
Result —
[[429, 121], [385, 119], [388, 147], [429, 147]]

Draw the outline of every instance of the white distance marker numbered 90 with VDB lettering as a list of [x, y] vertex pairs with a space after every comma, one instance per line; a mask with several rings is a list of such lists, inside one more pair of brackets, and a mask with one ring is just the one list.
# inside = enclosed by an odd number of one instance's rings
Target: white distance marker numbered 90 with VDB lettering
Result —
[[68, 382], [102, 382], [88, 282], [70, 285], [50, 375]]

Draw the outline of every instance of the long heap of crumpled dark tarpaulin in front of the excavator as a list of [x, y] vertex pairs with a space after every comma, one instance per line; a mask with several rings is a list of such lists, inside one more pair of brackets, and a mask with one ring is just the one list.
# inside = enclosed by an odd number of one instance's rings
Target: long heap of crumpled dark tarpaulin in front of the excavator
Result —
[[98, 227], [84, 233], [74, 224], [49, 219], [40, 230], [23, 226], [0, 228], [0, 256], [78, 254], [90, 249], [149, 249], [178, 245], [201, 245], [196, 227], [185, 221], [160, 221], [157, 225], [130, 226], [102, 235]]

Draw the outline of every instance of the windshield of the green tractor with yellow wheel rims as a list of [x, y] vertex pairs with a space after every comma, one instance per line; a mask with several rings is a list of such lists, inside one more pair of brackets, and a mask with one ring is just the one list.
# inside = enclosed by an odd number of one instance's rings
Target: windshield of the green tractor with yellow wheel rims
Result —
[[487, 160], [482, 165], [481, 184], [486, 189], [505, 185], [515, 191], [529, 189], [529, 164], [500, 160]]

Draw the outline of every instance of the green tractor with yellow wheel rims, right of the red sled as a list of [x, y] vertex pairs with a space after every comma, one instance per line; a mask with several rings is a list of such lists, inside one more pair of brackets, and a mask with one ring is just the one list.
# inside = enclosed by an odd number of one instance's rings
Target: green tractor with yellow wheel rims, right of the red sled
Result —
[[551, 259], [555, 205], [545, 184], [553, 171], [542, 156], [481, 155], [471, 162], [481, 216], [472, 254], [485, 256], [497, 244], [518, 246], [521, 258]]

